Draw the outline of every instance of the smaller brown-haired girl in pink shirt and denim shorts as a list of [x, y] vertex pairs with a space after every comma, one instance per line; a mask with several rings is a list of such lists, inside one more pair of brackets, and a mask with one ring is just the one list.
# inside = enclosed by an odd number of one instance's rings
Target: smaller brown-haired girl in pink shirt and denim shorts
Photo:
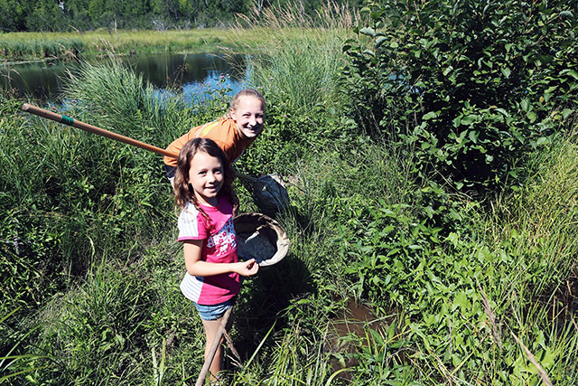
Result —
[[[255, 275], [259, 269], [255, 259], [238, 261], [233, 178], [227, 156], [214, 141], [194, 138], [182, 147], [174, 176], [175, 201], [182, 208], [178, 240], [186, 266], [181, 290], [199, 310], [207, 337], [205, 358], [239, 292], [239, 275]], [[219, 344], [211, 380], [222, 368], [222, 355]]]

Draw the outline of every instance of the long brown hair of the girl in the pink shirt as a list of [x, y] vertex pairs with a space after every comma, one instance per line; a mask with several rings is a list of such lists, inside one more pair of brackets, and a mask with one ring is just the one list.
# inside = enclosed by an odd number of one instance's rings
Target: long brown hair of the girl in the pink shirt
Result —
[[185, 146], [182, 146], [181, 153], [179, 153], [179, 158], [177, 159], [177, 170], [174, 174], [174, 200], [182, 209], [184, 209], [187, 202], [191, 202], [205, 218], [208, 218], [207, 214], [200, 208], [192, 186], [187, 181], [189, 179], [189, 170], [191, 169], [191, 160], [200, 152], [219, 158], [221, 165], [223, 165], [225, 177], [219, 194], [225, 194], [233, 205], [238, 204], [238, 198], [233, 193], [235, 173], [228, 162], [227, 155], [212, 139], [194, 138], [187, 142]]

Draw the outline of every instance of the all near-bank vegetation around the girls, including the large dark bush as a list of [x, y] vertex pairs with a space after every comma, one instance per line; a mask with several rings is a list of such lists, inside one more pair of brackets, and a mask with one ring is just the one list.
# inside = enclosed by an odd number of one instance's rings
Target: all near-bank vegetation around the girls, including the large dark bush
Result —
[[[228, 32], [238, 48], [267, 37], [247, 61], [266, 131], [239, 172], [291, 182], [291, 206], [275, 215], [291, 248], [244, 283], [228, 384], [575, 384], [569, 3], [531, 14], [513, 1], [371, 6], [356, 30]], [[522, 18], [550, 30], [521, 33]], [[452, 33], [438, 33], [445, 25]], [[518, 55], [537, 50], [527, 33], [553, 61]], [[415, 87], [390, 76], [405, 69]], [[118, 61], [86, 70], [66, 88], [83, 101], [70, 116], [157, 146], [227, 108], [219, 89], [209, 103], [175, 95], [161, 108]], [[162, 161], [31, 118], [23, 101], [3, 91], [0, 105], [0, 377], [192, 384], [203, 332], [178, 289]], [[236, 190], [240, 210], [256, 212], [247, 186]], [[355, 322], [332, 341], [351, 304], [381, 325]]]

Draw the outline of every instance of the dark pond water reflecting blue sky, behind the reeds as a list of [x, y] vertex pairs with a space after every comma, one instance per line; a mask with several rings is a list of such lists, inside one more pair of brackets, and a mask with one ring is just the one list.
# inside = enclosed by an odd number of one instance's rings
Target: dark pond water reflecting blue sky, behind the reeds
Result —
[[[240, 59], [240, 58], [238, 58]], [[124, 58], [136, 73], [143, 74], [155, 89], [182, 89], [185, 99], [210, 87], [227, 87], [234, 94], [243, 89], [245, 69], [234, 69], [216, 54], [154, 54]], [[67, 69], [73, 62], [36, 61], [0, 67], [0, 87], [15, 89], [20, 96], [54, 101], [58, 99]], [[243, 66], [244, 67], [244, 66]]]

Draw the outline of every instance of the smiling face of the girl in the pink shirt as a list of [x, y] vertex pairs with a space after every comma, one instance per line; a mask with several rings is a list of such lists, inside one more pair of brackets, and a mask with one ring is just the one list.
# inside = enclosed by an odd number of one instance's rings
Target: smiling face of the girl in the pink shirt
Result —
[[200, 204], [217, 206], [217, 193], [223, 186], [225, 173], [219, 158], [204, 152], [198, 152], [191, 159], [189, 180], [195, 197]]

